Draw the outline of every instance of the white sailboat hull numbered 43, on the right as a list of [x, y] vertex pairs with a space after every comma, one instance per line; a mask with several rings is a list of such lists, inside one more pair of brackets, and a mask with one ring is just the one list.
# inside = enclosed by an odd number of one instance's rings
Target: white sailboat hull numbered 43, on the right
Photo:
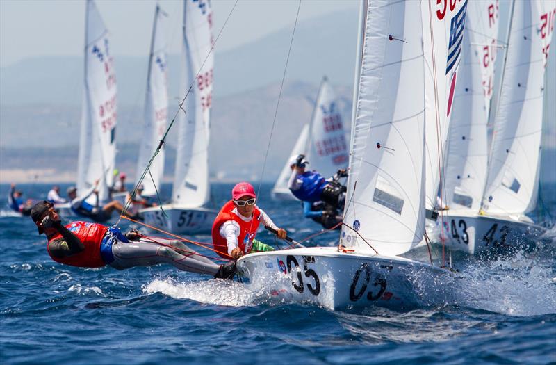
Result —
[[440, 232], [439, 217], [434, 241], [443, 240], [452, 250], [468, 254], [503, 253], [531, 243], [546, 231], [526, 216], [477, 216], [465, 211], [446, 211], [444, 215], [443, 234]]

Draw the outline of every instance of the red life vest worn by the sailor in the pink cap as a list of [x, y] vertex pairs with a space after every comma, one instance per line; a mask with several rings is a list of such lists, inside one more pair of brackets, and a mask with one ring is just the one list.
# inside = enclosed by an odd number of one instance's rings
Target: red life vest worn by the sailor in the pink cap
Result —
[[259, 223], [261, 222], [261, 211], [255, 206], [253, 211], [253, 217], [250, 222], [245, 222], [245, 220], [236, 216], [236, 214], [231, 211], [234, 210], [236, 206], [231, 200], [222, 206], [220, 213], [216, 216], [213, 222], [212, 236], [213, 236], [213, 247], [216, 252], [224, 259], [229, 259], [228, 245], [226, 243], [226, 238], [220, 236], [220, 227], [228, 220], [234, 220], [238, 223], [240, 227], [240, 234], [238, 236], [238, 247], [244, 253], [249, 253], [251, 251], [251, 246], [253, 244], [253, 239], [255, 238], [256, 230], [259, 228]]

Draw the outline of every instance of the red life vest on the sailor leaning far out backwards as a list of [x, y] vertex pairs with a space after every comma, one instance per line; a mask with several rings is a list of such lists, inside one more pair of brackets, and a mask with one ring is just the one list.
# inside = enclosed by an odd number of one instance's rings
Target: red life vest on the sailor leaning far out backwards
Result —
[[[100, 244], [104, 238], [104, 234], [108, 231], [108, 227], [99, 225], [98, 223], [81, 221], [72, 222], [65, 227], [79, 238], [79, 241], [85, 245], [85, 250], [79, 252], [79, 254], [73, 254], [68, 257], [54, 257], [47, 246], [48, 254], [54, 261], [65, 265], [78, 266], [80, 268], [101, 268], [106, 265], [100, 255]], [[50, 243], [61, 237], [62, 235], [58, 233], [52, 236], [48, 241]]]

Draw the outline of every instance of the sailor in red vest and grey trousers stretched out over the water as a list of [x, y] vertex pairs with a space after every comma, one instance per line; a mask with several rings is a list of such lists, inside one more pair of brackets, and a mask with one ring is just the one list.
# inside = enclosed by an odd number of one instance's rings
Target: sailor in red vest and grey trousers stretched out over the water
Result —
[[63, 226], [53, 204], [43, 200], [33, 206], [31, 218], [39, 234], [46, 234], [51, 259], [81, 268], [111, 266], [124, 270], [134, 266], [170, 263], [179, 270], [232, 279], [235, 263], [218, 265], [185, 244], [165, 238], [142, 238], [132, 229], [122, 234], [117, 227], [98, 223], [72, 222]]

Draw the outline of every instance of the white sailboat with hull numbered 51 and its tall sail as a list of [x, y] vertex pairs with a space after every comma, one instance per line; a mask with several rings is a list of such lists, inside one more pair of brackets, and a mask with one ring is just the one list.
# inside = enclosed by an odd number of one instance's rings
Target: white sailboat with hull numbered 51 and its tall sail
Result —
[[184, 1], [182, 95], [186, 95], [189, 86], [193, 87], [183, 105], [185, 113], [179, 114], [172, 200], [163, 204], [162, 209], [154, 206], [140, 210], [147, 225], [175, 234], [208, 233], [218, 214], [218, 211], [206, 208], [210, 197], [208, 138], [214, 64], [212, 17], [210, 2]]

